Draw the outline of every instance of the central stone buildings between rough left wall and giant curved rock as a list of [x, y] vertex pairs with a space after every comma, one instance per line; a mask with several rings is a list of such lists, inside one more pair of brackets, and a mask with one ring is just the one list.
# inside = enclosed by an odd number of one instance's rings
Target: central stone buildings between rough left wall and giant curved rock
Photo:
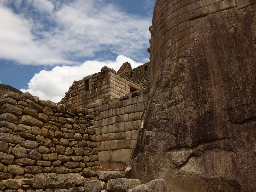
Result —
[[61, 100], [64, 105], [87, 108], [95, 116], [101, 166], [118, 169], [130, 161], [149, 85], [149, 63], [132, 69], [126, 62], [117, 73], [105, 66], [99, 73], [74, 81]]

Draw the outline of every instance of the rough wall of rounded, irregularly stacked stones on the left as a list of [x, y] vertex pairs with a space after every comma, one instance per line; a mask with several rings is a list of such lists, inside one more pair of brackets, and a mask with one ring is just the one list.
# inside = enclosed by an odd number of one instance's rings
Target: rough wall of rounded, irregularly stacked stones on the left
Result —
[[0, 100], [0, 180], [98, 170], [94, 116], [26, 92]]

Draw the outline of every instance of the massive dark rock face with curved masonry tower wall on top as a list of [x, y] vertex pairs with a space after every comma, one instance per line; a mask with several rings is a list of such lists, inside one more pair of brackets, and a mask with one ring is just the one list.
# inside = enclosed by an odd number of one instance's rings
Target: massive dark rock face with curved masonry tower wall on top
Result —
[[126, 177], [172, 192], [256, 191], [253, 4], [156, 1], [153, 86]]

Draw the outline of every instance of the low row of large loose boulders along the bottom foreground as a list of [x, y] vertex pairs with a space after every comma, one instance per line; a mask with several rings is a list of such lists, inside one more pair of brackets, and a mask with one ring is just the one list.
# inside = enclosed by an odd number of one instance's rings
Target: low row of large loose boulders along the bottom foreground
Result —
[[83, 171], [78, 173], [37, 174], [33, 179], [0, 181], [0, 191], [6, 192], [166, 192], [164, 180], [152, 180], [144, 185], [137, 179], [126, 179], [124, 172]]

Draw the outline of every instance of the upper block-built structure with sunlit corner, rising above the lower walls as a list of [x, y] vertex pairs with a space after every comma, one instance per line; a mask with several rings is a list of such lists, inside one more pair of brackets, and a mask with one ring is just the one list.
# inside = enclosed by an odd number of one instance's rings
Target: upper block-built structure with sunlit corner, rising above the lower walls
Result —
[[80, 108], [91, 103], [120, 98], [129, 93], [131, 89], [142, 88], [139, 84], [120, 76], [113, 69], [105, 66], [99, 73], [74, 81], [61, 103]]

